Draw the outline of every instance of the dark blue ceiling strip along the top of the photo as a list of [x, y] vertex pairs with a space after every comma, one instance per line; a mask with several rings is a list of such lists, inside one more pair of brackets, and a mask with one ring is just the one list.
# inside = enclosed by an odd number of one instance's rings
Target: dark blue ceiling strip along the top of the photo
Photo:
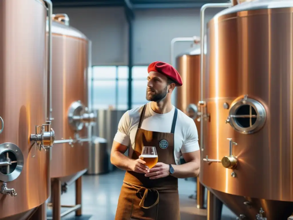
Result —
[[133, 9], [199, 8], [206, 3], [227, 3], [229, 0], [52, 0], [54, 8], [117, 7]]

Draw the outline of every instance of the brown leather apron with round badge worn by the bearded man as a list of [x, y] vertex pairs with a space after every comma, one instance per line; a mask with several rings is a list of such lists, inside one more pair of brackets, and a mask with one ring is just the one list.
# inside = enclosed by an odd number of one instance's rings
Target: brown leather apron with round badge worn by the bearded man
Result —
[[[142, 153], [143, 146], [155, 146], [158, 162], [175, 164], [175, 109], [171, 133], [147, 131], [141, 127], [146, 105], [143, 106], [135, 136], [132, 159]], [[121, 188], [115, 220], [180, 220], [178, 179], [167, 176], [150, 180], [142, 173], [126, 171]]]

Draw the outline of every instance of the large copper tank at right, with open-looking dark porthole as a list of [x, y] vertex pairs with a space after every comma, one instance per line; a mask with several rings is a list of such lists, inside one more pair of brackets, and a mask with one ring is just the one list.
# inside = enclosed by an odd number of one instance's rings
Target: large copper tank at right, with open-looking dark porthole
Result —
[[200, 182], [245, 219], [293, 212], [292, 12], [251, 1], [207, 25]]

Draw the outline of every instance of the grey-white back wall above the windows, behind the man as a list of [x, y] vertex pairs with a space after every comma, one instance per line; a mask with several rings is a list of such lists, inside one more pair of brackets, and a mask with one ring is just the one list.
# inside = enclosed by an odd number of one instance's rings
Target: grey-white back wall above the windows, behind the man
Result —
[[[206, 10], [208, 21], [217, 9]], [[67, 13], [70, 25], [92, 40], [93, 65], [127, 65], [128, 24], [123, 8], [55, 8]], [[135, 11], [134, 65], [160, 60], [170, 62], [170, 43], [175, 37], [200, 35], [200, 9], [145, 9]], [[175, 55], [190, 48], [177, 43]]]

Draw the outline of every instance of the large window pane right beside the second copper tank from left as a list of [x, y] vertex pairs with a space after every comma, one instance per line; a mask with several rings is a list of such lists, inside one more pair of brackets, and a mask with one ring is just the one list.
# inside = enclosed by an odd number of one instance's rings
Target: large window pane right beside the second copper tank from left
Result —
[[93, 81], [93, 109], [115, 107], [116, 81]]

